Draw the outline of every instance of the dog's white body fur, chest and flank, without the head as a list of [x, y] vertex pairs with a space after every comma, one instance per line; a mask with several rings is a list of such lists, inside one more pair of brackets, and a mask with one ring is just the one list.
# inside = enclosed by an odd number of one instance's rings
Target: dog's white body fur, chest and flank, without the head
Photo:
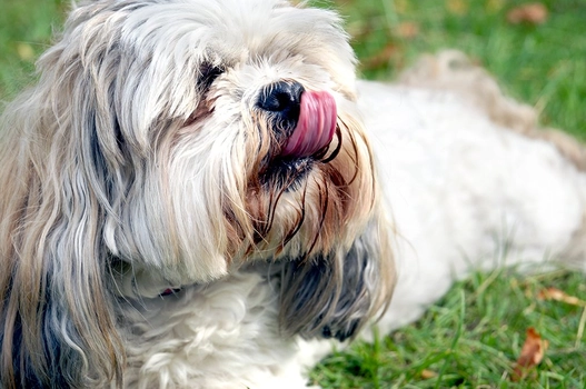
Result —
[[[582, 227], [586, 176], [553, 144], [496, 126], [448, 92], [375, 82], [359, 92], [399, 262], [380, 332], [416, 320], [474, 269], [567, 250]], [[185, 293], [146, 317], [151, 333], [129, 339], [143, 388], [159, 379], [171, 388], [302, 388], [306, 369], [335, 346], [282, 338], [271, 287], [257, 275]]]

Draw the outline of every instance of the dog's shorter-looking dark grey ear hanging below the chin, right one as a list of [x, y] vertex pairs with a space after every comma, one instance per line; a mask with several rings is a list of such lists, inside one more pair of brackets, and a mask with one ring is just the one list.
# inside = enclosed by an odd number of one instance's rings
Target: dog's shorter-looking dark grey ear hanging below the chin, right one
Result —
[[349, 250], [286, 263], [281, 328], [289, 335], [344, 341], [381, 315], [395, 285], [389, 239], [381, 218], [375, 217]]

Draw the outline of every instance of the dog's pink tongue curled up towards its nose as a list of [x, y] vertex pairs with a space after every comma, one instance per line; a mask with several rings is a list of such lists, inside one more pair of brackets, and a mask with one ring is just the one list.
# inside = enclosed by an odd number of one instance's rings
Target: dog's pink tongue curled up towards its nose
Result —
[[282, 149], [282, 156], [309, 157], [329, 144], [336, 132], [336, 101], [328, 92], [301, 94], [299, 122]]

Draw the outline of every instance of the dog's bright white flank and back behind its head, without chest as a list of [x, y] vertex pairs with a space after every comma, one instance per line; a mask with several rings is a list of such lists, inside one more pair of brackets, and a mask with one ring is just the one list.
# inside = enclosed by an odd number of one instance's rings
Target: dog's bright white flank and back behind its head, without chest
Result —
[[380, 326], [417, 319], [470, 270], [564, 258], [583, 226], [586, 176], [554, 144], [450, 92], [373, 82], [360, 91], [398, 232], [398, 283]]

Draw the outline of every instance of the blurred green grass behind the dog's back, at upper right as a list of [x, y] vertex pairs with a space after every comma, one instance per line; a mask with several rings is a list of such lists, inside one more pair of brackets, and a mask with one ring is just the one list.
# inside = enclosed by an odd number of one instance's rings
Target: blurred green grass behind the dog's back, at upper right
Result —
[[[389, 78], [421, 52], [457, 48], [498, 76], [505, 90], [542, 112], [544, 126], [586, 139], [586, 1], [545, 0], [548, 19], [513, 26], [506, 13], [520, 0], [338, 0], [358, 56], [366, 62], [386, 48], [386, 63], [362, 69]], [[448, 7], [451, 4], [451, 7]], [[450, 11], [451, 9], [451, 11]], [[419, 33], [403, 38], [398, 26]]]

